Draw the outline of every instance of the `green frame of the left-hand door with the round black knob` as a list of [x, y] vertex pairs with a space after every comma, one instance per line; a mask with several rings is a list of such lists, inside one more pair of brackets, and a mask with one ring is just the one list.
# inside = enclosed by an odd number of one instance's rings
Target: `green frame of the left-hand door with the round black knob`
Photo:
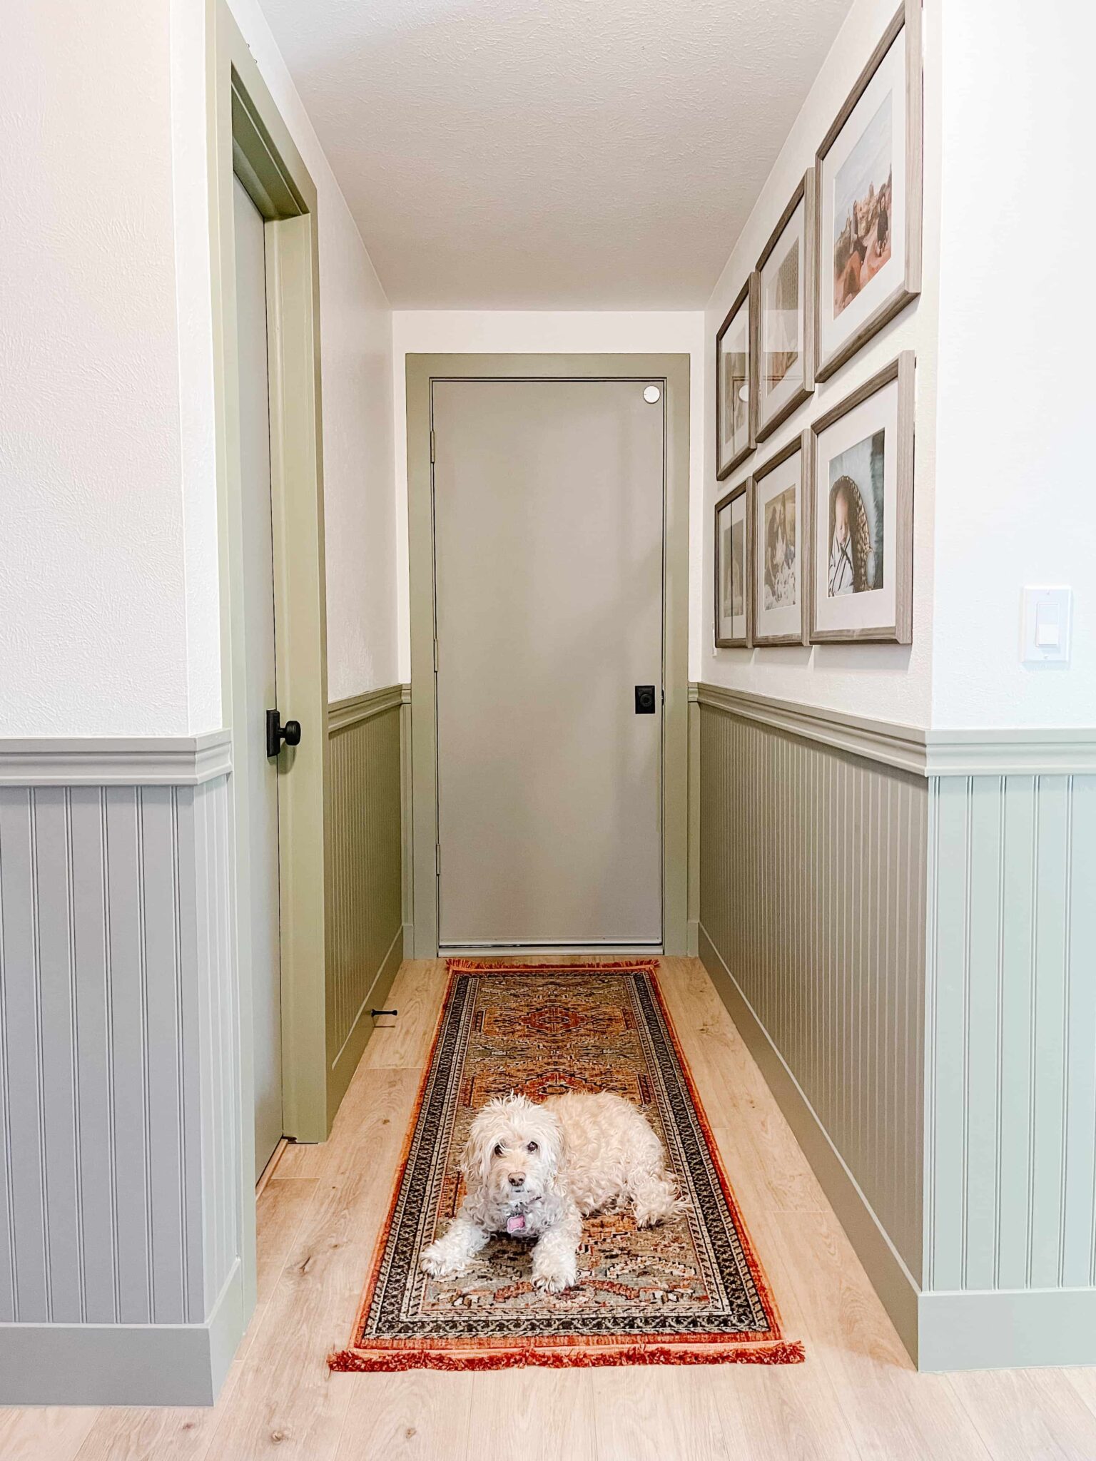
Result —
[[[232, 178], [266, 221], [270, 494], [279, 709], [301, 722], [279, 757], [279, 918], [285, 1135], [330, 1129], [326, 1031], [324, 823], [327, 815], [327, 624], [320, 422], [317, 194], [304, 159], [225, 0], [206, 0], [208, 175], [213, 300], [221, 695], [232, 735], [232, 929], [240, 995], [240, 1157], [244, 1273], [254, 1284], [254, 1052], [247, 869], [247, 766], [263, 754], [244, 726], [244, 532]], [[228, 973], [228, 972], [227, 972]]]

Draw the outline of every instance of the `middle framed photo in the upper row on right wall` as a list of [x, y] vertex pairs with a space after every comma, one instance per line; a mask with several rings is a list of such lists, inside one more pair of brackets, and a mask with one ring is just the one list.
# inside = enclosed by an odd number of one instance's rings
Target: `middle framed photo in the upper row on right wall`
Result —
[[757, 260], [758, 441], [814, 390], [815, 221], [814, 168], [808, 168]]

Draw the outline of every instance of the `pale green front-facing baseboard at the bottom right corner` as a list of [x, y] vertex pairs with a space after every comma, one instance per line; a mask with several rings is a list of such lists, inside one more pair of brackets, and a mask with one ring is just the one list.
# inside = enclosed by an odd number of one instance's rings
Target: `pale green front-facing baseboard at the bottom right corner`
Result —
[[1096, 1365], [1096, 1289], [922, 1293], [922, 1370]]

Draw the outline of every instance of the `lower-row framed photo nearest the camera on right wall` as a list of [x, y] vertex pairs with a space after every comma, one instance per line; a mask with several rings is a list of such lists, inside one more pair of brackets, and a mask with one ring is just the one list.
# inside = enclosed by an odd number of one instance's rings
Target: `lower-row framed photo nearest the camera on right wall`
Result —
[[913, 627], [913, 352], [811, 425], [813, 644], [909, 644]]

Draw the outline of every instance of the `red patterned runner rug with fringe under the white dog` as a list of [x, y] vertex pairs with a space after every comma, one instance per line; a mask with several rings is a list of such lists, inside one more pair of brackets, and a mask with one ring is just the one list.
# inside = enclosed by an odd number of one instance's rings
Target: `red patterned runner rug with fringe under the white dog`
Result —
[[[492, 1096], [617, 1091], [662, 1137], [688, 1211], [590, 1217], [579, 1284], [542, 1293], [498, 1235], [459, 1278], [419, 1254], [463, 1197], [457, 1161]], [[449, 989], [348, 1349], [333, 1370], [794, 1365], [658, 985], [658, 961], [449, 960]]]

